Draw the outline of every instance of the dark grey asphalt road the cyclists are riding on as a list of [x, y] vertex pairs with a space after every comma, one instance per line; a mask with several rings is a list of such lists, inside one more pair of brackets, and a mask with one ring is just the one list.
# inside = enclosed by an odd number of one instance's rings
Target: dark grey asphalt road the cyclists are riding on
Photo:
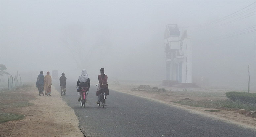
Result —
[[[63, 99], [74, 109], [85, 136], [204, 136], [255, 137], [256, 131], [213, 120], [164, 103], [110, 90], [107, 106], [98, 107], [91, 85], [85, 108], [74, 86], [67, 85]], [[55, 87], [59, 87], [55, 84]], [[60, 91], [59, 88], [57, 88]]]

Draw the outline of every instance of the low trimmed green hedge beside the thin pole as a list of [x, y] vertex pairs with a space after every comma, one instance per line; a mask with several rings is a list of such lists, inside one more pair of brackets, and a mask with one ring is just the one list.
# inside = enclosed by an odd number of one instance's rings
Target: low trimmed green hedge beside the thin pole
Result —
[[246, 92], [227, 92], [226, 96], [232, 100], [240, 100], [243, 103], [256, 103], [256, 93], [246, 93]]

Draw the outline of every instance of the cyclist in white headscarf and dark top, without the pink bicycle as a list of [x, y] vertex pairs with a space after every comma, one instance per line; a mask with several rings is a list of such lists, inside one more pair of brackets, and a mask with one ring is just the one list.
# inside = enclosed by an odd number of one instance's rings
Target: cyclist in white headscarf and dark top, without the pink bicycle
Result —
[[[89, 75], [87, 74], [87, 71], [86, 71], [85, 69], [83, 69], [81, 75], [78, 77], [76, 87], [78, 87], [78, 86], [79, 86], [79, 88], [88, 87], [88, 91], [89, 91], [89, 89], [90, 89], [90, 84], [91, 84], [91, 82], [90, 82], [90, 77], [89, 77]], [[80, 92], [78, 92], [78, 97], [79, 97], [79, 98], [78, 98], [77, 101], [81, 101], [81, 93], [80, 93]], [[86, 99], [85, 102], [88, 102], [88, 101], [87, 101], [87, 94], [86, 94], [86, 96], [85, 96], [85, 99]]]

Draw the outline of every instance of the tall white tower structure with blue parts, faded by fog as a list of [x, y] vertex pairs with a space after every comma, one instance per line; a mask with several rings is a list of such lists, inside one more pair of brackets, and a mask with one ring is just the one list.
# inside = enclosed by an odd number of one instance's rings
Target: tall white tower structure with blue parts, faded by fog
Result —
[[165, 29], [166, 80], [175, 83], [192, 83], [191, 45], [187, 31], [182, 33], [177, 24], [168, 24]]

